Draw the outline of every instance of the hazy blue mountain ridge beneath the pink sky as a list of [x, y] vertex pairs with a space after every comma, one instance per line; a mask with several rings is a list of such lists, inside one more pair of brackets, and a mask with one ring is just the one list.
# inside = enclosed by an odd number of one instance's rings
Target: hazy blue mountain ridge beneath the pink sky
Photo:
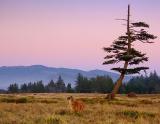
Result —
[[[31, 66], [2, 66], [0, 67], [0, 89], [6, 89], [11, 83], [29, 83], [42, 80], [45, 84], [50, 80], [56, 81], [58, 76], [61, 75], [65, 83], [75, 84], [78, 73], [88, 78], [108, 75], [115, 81], [118, 78], [118, 74], [104, 71], [104, 70], [91, 70], [83, 71], [80, 69], [69, 68], [54, 68], [43, 65], [31, 65]], [[125, 80], [129, 80], [130, 77], [126, 77]]]

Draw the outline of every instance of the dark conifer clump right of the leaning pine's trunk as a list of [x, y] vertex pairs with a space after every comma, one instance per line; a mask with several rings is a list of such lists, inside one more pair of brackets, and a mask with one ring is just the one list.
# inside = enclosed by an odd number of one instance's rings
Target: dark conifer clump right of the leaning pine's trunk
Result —
[[139, 94], [160, 93], [160, 77], [156, 72], [149, 76], [137, 76], [123, 84], [120, 93], [135, 92]]

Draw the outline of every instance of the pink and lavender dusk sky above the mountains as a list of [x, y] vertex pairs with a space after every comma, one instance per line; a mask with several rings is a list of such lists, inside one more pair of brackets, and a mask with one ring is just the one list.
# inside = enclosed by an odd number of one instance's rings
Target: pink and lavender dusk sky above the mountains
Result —
[[[128, 4], [131, 20], [160, 37], [160, 0], [0, 0], [0, 66], [108, 71], [102, 48], [126, 31], [116, 19], [126, 18]], [[160, 74], [160, 38], [135, 46], [149, 56], [144, 66]]]

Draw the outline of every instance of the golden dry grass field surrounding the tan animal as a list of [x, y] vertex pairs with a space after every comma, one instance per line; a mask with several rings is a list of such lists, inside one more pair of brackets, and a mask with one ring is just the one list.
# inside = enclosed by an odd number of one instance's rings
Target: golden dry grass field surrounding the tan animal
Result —
[[[85, 103], [83, 112], [70, 112], [70, 95]], [[160, 124], [160, 95], [1, 94], [0, 124]]]

